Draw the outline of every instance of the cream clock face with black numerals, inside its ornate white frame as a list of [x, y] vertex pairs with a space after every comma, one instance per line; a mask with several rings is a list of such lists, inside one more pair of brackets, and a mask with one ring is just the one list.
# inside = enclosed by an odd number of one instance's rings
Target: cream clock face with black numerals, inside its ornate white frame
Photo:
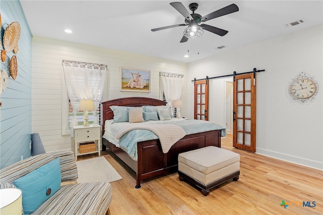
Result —
[[296, 98], [309, 98], [315, 91], [316, 85], [309, 79], [298, 79], [290, 84], [290, 93]]

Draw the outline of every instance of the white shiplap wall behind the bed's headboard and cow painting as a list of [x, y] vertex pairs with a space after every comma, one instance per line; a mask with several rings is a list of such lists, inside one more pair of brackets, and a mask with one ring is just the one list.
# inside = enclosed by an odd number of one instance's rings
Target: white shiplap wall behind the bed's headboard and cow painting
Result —
[[[33, 37], [32, 132], [38, 132], [46, 151], [71, 149], [70, 135], [62, 135], [62, 60], [107, 65], [102, 101], [144, 96], [159, 98], [159, 72], [184, 74], [183, 116], [187, 115], [187, 64], [84, 44]], [[150, 92], [120, 91], [120, 67], [150, 70]], [[162, 99], [162, 98], [161, 98]]]

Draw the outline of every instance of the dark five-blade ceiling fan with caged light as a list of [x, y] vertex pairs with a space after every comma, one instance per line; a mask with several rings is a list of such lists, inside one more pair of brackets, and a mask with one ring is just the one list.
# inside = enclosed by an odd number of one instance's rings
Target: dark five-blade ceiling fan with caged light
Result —
[[221, 28], [213, 27], [206, 24], [200, 24], [200, 23], [239, 11], [238, 6], [235, 4], [232, 4], [202, 17], [201, 15], [194, 13], [198, 7], [197, 3], [191, 3], [188, 6], [189, 9], [193, 12], [192, 14], [190, 14], [183, 6], [183, 4], [180, 2], [173, 2], [173, 3], [170, 3], [170, 5], [173, 6], [178, 12], [180, 12], [180, 14], [182, 14], [185, 17], [185, 21], [184, 21], [185, 24], [154, 28], [154, 29], [151, 29], [151, 31], [160, 31], [168, 28], [175, 28], [179, 26], [188, 25], [188, 27], [184, 30], [184, 36], [182, 37], [180, 42], [187, 42], [188, 38], [197, 38], [202, 36], [204, 32], [203, 30], [212, 32], [214, 34], [218, 34], [220, 36], [226, 35], [228, 33], [227, 30], [223, 30]]

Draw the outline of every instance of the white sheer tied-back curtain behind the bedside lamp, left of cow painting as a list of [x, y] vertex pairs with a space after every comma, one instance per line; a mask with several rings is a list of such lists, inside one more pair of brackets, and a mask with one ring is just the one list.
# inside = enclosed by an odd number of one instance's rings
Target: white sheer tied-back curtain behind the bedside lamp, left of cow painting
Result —
[[96, 110], [100, 105], [106, 73], [105, 65], [63, 61], [64, 78], [73, 108], [71, 125], [77, 125], [76, 114], [80, 100], [94, 101], [94, 124], [98, 124]]

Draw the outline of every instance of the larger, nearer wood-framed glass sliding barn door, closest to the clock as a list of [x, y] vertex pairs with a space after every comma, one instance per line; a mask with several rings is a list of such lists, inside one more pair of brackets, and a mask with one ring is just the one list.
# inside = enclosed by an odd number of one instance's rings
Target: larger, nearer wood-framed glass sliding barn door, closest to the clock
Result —
[[253, 73], [233, 82], [233, 146], [256, 151], [256, 80]]

